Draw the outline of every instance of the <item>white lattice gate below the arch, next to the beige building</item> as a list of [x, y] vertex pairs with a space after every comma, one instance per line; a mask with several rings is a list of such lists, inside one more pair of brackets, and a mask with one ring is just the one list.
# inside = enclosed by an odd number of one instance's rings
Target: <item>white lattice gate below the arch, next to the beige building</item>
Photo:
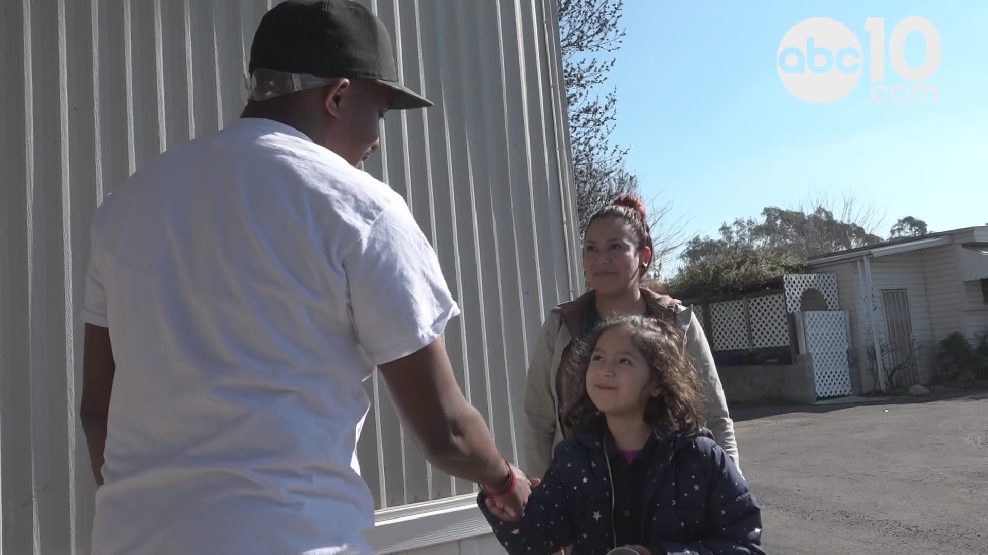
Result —
[[817, 397], [851, 394], [848, 367], [848, 313], [803, 312], [806, 351], [813, 357]]

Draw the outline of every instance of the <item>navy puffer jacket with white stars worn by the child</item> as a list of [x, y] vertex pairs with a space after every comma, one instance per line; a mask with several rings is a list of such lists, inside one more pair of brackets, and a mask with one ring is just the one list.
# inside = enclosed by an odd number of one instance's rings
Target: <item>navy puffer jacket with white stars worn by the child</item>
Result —
[[[573, 545], [573, 555], [617, 547], [610, 434], [603, 422], [574, 431], [518, 522], [502, 522], [478, 498], [508, 553], [544, 555]], [[642, 492], [641, 537], [652, 555], [764, 555], [761, 508], [709, 431], [679, 435], [652, 450]]]

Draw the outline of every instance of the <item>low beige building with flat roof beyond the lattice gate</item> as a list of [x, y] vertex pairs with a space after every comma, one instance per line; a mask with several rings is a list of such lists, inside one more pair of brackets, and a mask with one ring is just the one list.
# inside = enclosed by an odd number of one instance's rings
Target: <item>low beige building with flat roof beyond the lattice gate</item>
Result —
[[[876, 388], [876, 371], [897, 366], [895, 384], [929, 383], [944, 338], [988, 332], [988, 226], [825, 255], [808, 266], [837, 277], [856, 393]], [[872, 366], [873, 353], [884, 353], [885, 363]]]

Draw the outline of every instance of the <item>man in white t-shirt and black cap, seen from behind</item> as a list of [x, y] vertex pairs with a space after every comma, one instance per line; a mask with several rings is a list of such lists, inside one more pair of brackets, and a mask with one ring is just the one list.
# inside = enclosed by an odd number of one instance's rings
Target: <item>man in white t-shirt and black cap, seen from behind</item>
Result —
[[528, 500], [456, 385], [435, 252], [355, 167], [384, 112], [431, 106], [392, 56], [360, 4], [280, 4], [243, 118], [100, 206], [81, 407], [93, 553], [370, 553], [356, 445], [374, 367], [430, 461], [516, 515]]

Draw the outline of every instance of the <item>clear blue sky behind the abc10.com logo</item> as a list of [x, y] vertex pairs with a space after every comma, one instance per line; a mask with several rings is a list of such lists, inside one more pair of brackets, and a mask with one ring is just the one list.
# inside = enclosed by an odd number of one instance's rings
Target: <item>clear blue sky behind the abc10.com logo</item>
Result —
[[[712, 6], [716, 6], [713, 8]], [[922, 16], [940, 32], [942, 59], [925, 82], [940, 101], [867, 102], [868, 17], [885, 19], [885, 84], [905, 83], [887, 53], [894, 26]], [[782, 85], [776, 64], [790, 27], [827, 17], [864, 49], [858, 86], [815, 105]], [[617, 87], [612, 139], [631, 147], [627, 166], [653, 205], [671, 202], [691, 233], [757, 216], [807, 196], [855, 196], [884, 220], [913, 215], [931, 230], [988, 222], [988, 2], [903, 0], [674, 2], [625, 0], [627, 37], [609, 86]], [[912, 34], [918, 66], [925, 40]]]

